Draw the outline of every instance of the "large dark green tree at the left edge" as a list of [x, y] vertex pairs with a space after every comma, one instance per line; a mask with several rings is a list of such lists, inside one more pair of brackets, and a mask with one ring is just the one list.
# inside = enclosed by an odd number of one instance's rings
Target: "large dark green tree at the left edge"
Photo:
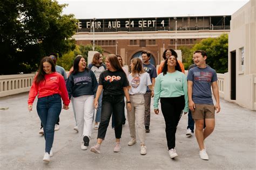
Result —
[[[73, 15], [62, 15], [66, 4], [51, 0], [5, 0], [0, 4], [0, 74], [31, 72], [43, 56], [75, 49]], [[15, 67], [10, 67], [15, 66]]]

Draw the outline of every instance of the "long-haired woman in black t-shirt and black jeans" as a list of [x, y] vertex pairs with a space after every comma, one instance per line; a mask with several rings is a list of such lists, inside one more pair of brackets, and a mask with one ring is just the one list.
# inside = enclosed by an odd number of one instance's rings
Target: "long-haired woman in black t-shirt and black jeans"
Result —
[[126, 74], [120, 63], [118, 62], [117, 56], [110, 54], [107, 56], [106, 67], [102, 74], [99, 76], [99, 86], [95, 97], [95, 108], [98, 108], [98, 98], [103, 90], [102, 97], [102, 114], [98, 129], [97, 144], [91, 147], [91, 151], [100, 153], [100, 144], [105, 138], [107, 126], [109, 126], [110, 117], [115, 117], [115, 128], [114, 133], [116, 134], [116, 146], [114, 146], [114, 152], [120, 152], [120, 138], [122, 135], [122, 118], [124, 115], [124, 95], [127, 100], [127, 108], [131, 110], [130, 96], [128, 93], [129, 82]]

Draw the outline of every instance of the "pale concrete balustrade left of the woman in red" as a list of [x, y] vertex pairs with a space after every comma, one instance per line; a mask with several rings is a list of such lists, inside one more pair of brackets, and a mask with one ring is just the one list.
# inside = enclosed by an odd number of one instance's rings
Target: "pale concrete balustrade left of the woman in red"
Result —
[[0, 97], [29, 91], [35, 74], [0, 75]]

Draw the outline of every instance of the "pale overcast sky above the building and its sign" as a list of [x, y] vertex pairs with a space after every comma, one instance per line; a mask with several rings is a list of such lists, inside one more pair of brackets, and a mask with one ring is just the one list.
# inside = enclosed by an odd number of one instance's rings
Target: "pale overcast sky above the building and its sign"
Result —
[[[69, 4], [64, 14], [73, 13], [77, 19], [140, 18], [232, 15], [249, 0], [57, 0]], [[252, 0], [253, 1], [253, 0]]]

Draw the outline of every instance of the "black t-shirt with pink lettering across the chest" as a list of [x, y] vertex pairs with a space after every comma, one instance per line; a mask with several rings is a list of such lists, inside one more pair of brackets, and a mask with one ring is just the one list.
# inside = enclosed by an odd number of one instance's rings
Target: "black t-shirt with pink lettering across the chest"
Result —
[[99, 76], [99, 85], [103, 85], [103, 95], [124, 95], [123, 87], [129, 83], [124, 72], [105, 70]]

